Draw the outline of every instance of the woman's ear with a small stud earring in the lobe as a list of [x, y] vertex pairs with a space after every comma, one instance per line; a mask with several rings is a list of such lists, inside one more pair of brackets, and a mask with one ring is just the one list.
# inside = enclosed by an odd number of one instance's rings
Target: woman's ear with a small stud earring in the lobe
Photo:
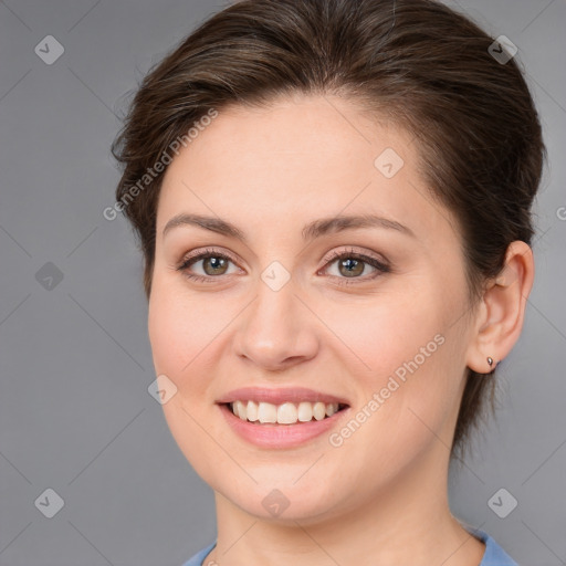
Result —
[[[531, 247], [520, 240], [512, 242], [502, 271], [489, 281], [476, 311], [474, 336], [467, 356], [472, 370], [489, 374], [513, 348], [523, 328], [534, 273]], [[488, 358], [493, 359], [493, 365], [490, 366]]]

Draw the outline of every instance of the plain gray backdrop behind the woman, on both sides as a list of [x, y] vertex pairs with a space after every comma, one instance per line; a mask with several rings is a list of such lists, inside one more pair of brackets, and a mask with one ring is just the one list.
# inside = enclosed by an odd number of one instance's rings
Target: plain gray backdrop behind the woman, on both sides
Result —
[[[212, 493], [148, 394], [140, 254], [125, 220], [102, 211], [124, 95], [223, 6], [0, 1], [2, 566], [174, 566], [216, 536]], [[450, 6], [518, 46], [549, 151], [525, 328], [501, 367], [497, 419], [451, 471], [452, 511], [522, 565], [565, 564], [566, 3]], [[50, 34], [64, 53], [48, 65], [34, 48]], [[500, 509], [518, 502], [505, 518], [488, 504], [501, 488]], [[64, 500], [52, 518], [34, 503], [46, 489]]]

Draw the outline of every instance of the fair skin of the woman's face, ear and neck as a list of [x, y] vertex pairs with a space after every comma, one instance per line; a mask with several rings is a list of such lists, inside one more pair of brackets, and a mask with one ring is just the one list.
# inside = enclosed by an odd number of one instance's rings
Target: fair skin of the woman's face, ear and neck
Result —
[[[405, 161], [391, 178], [374, 165], [386, 148]], [[163, 406], [168, 426], [214, 490], [218, 544], [203, 564], [480, 564], [484, 544], [450, 513], [450, 447], [467, 368], [489, 371], [486, 357], [503, 359], [518, 338], [533, 256], [514, 242], [506, 269], [471, 310], [458, 223], [427, 197], [417, 151], [408, 133], [370, 122], [352, 103], [296, 96], [223, 108], [168, 167], [148, 329], [156, 373], [177, 387]], [[223, 219], [245, 242], [193, 224], [164, 234], [179, 213]], [[408, 230], [302, 238], [313, 220], [369, 213]], [[216, 264], [201, 259], [185, 272], [208, 282], [176, 270], [189, 252], [210, 249]], [[340, 261], [329, 263], [334, 251], [390, 270], [361, 263], [348, 277]], [[219, 254], [230, 256], [223, 271]], [[290, 275], [277, 291], [261, 277], [274, 261]], [[331, 434], [434, 336], [442, 345], [332, 446]], [[300, 446], [258, 447], [217, 402], [249, 386], [307, 387], [348, 407]], [[289, 503], [276, 516], [262, 505], [274, 489]]]

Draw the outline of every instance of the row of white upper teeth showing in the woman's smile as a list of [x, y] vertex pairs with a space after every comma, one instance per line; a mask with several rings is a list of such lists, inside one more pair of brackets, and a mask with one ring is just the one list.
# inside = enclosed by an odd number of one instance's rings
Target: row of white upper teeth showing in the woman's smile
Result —
[[232, 412], [242, 420], [251, 422], [260, 421], [276, 422], [279, 424], [294, 424], [298, 422], [308, 422], [313, 420], [323, 420], [325, 417], [332, 417], [338, 410], [337, 402], [324, 403], [322, 401], [308, 402], [302, 401], [297, 405], [284, 402], [282, 405], [272, 405], [271, 402], [254, 401], [234, 401], [230, 403]]

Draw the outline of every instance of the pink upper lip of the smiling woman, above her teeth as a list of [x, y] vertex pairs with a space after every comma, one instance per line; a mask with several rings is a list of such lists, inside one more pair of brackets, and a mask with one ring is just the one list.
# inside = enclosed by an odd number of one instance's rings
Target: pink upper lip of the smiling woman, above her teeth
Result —
[[284, 402], [321, 401], [324, 403], [337, 402], [339, 405], [349, 405], [346, 399], [334, 395], [315, 391], [305, 387], [241, 387], [233, 389], [217, 400], [218, 403], [228, 403], [234, 401], [255, 401], [270, 402], [272, 405], [282, 405]]

